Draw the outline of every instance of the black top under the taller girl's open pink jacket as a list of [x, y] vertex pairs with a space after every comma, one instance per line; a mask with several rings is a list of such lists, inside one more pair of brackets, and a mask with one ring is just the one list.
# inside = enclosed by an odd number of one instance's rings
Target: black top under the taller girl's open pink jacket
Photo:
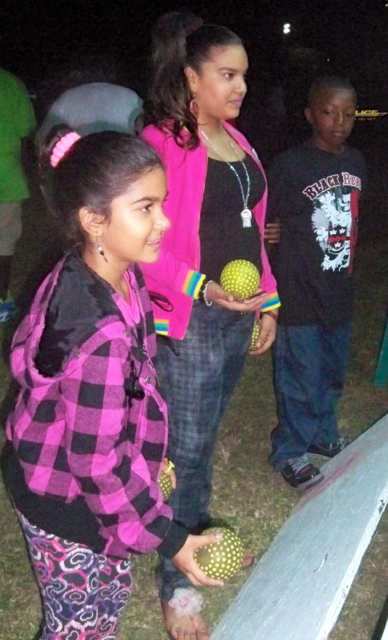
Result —
[[[247, 176], [242, 163], [237, 160], [229, 164], [237, 171], [246, 194]], [[250, 156], [245, 156], [244, 164], [250, 180], [248, 208], [252, 209], [263, 197], [265, 180]], [[216, 282], [220, 281], [222, 269], [231, 260], [249, 260], [262, 272], [260, 231], [253, 214], [251, 226], [243, 227], [240, 216], [243, 209], [241, 188], [234, 171], [227, 162], [209, 158], [199, 238], [201, 272]]]

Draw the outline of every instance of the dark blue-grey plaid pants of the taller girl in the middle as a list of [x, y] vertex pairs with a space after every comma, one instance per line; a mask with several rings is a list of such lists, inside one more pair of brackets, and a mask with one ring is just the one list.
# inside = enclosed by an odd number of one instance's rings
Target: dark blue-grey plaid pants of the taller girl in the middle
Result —
[[[213, 453], [227, 402], [248, 352], [253, 313], [195, 302], [183, 340], [159, 338], [156, 367], [169, 416], [167, 455], [177, 488], [169, 505], [174, 520], [191, 533], [210, 525]], [[157, 583], [162, 600], [191, 583], [171, 560], [161, 558]]]

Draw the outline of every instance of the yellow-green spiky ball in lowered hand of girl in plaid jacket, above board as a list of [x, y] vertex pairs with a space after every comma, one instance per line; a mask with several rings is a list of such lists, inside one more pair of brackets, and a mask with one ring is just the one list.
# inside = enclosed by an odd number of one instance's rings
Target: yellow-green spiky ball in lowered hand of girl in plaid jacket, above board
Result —
[[240, 538], [230, 529], [214, 527], [206, 529], [202, 535], [217, 532], [222, 533], [221, 540], [199, 547], [194, 560], [209, 578], [228, 580], [241, 569], [244, 549]]

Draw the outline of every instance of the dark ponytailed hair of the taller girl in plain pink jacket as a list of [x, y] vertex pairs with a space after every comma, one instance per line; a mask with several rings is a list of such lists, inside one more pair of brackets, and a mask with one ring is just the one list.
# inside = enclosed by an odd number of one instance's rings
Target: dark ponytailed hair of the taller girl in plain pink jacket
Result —
[[[198, 74], [217, 47], [242, 45], [241, 38], [226, 27], [202, 25], [192, 13], [174, 11], [162, 16], [153, 31], [151, 85], [146, 104], [146, 123], [169, 129], [177, 144], [194, 149], [199, 145], [198, 125], [190, 111], [192, 99], [185, 68]], [[186, 129], [189, 139], [184, 140]]]

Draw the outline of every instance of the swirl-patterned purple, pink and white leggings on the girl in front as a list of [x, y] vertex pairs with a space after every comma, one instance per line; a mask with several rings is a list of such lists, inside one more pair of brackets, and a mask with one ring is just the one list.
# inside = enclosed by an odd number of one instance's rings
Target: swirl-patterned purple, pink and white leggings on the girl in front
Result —
[[130, 560], [94, 553], [18, 517], [42, 598], [41, 640], [114, 640], [131, 595]]

